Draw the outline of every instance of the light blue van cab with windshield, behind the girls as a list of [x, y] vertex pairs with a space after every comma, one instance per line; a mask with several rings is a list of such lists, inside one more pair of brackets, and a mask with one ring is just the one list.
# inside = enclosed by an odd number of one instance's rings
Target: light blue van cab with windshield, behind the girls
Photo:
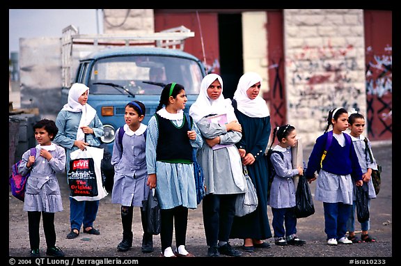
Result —
[[[184, 111], [188, 111], [198, 97], [203, 77], [203, 63], [181, 50], [121, 47], [103, 49], [81, 59], [74, 82], [89, 87], [88, 104], [102, 120], [101, 140], [112, 152], [116, 130], [125, 124], [128, 102], [138, 100], [145, 104], [146, 124], [155, 114], [164, 85], [176, 82], [185, 88], [188, 102]], [[63, 103], [67, 102], [68, 89], [63, 88]]]

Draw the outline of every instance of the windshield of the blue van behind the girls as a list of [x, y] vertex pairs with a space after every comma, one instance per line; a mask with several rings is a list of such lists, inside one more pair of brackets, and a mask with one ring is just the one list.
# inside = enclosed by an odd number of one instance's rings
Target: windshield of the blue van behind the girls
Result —
[[135, 95], [160, 95], [164, 84], [175, 82], [184, 86], [187, 95], [198, 95], [201, 81], [200, 65], [188, 58], [115, 56], [95, 61], [89, 86], [91, 94], [124, 93], [110, 86], [115, 84]]

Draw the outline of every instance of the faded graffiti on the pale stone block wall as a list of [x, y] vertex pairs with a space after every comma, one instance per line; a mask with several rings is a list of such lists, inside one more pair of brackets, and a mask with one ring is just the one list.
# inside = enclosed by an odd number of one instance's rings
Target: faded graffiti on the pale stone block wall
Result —
[[[336, 107], [359, 110], [363, 84], [356, 82], [361, 71], [352, 45], [303, 47], [287, 58], [290, 74], [288, 111], [294, 118], [313, 116], [320, 128], [327, 125], [329, 110]], [[364, 98], [363, 98], [364, 99]]]

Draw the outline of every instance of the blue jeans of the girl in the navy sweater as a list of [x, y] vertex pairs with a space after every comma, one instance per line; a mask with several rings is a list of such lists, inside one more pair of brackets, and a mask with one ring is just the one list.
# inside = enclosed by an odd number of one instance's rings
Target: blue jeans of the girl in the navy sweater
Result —
[[351, 206], [344, 203], [323, 203], [324, 208], [324, 233], [327, 240], [335, 238], [339, 240], [347, 233], [347, 221]]

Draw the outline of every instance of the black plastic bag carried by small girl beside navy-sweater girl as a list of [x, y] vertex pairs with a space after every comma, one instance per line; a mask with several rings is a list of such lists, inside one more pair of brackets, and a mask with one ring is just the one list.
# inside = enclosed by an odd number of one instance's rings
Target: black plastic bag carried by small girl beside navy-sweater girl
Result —
[[312, 194], [304, 175], [299, 175], [297, 192], [295, 193], [295, 217], [305, 218], [315, 213]]

